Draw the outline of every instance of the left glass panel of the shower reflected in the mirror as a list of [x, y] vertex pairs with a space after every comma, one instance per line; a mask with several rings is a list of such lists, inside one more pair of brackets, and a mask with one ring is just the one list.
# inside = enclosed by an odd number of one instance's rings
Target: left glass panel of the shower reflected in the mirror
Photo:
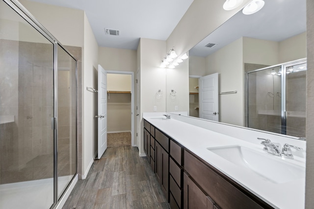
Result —
[[281, 66], [248, 73], [248, 127], [282, 133]]

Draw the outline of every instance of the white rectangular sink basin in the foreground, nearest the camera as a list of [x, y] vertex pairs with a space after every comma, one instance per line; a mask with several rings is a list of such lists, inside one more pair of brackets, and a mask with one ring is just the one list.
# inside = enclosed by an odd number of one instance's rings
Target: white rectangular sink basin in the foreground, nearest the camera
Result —
[[305, 167], [247, 147], [232, 145], [207, 149], [235, 165], [251, 169], [263, 179], [275, 184], [305, 178]]

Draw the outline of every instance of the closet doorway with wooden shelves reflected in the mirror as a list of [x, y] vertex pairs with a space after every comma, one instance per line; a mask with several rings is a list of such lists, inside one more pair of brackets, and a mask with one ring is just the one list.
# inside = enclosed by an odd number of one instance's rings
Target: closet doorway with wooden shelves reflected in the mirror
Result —
[[189, 116], [199, 116], [199, 96], [198, 96], [198, 78], [200, 76], [189, 77]]

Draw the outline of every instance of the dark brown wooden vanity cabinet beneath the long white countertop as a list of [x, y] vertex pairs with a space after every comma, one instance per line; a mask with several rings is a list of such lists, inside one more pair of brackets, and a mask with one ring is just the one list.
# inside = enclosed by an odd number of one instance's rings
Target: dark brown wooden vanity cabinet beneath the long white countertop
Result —
[[171, 209], [272, 209], [146, 120], [144, 151]]

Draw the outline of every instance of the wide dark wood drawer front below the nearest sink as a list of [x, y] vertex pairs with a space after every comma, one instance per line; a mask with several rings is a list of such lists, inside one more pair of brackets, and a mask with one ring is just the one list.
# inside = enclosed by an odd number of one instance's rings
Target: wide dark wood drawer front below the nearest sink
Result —
[[[201, 162], [187, 151], [184, 151], [184, 170], [202, 187], [202, 189], [223, 209], [262, 209], [254, 198], [244, 189], [240, 190], [230, 182], [225, 180], [221, 175], [209, 168], [205, 162]], [[236, 184], [236, 183], [234, 183]], [[243, 193], [243, 192], [246, 192]], [[226, 199], [228, 198], [228, 199]], [[257, 197], [256, 197], [257, 198]], [[260, 203], [262, 200], [256, 199]], [[264, 207], [271, 208], [266, 203]]]

